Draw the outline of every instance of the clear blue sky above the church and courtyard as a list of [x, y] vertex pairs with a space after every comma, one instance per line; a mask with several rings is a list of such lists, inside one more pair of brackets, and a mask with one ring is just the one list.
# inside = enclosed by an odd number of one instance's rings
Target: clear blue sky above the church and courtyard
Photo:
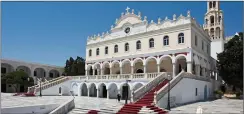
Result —
[[[129, 6], [148, 20], [187, 10], [203, 24], [206, 2], [2, 2], [2, 58], [64, 66], [85, 57], [87, 36], [106, 32]], [[243, 3], [221, 2], [225, 35], [242, 31]]]

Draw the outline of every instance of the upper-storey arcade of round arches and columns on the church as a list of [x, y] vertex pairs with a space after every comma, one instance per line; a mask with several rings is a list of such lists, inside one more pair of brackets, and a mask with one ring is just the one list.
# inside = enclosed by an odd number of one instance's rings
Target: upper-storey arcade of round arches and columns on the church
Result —
[[150, 56], [133, 59], [97, 62], [86, 65], [86, 75], [113, 75], [134, 73], [173, 72], [177, 75], [182, 70], [199, 75], [210, 75], [210, 63], [205, 59], [187, 54]]

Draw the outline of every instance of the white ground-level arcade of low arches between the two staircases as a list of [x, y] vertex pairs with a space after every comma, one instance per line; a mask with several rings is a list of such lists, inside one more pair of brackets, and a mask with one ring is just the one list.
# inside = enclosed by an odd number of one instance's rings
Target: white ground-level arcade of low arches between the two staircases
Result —
[[72, 84], [73, 91], [77, 91], [78, 96], [89, 96], [89, 97], [98, 97], [98, 98], [107, 98], [107, 99], [116, 99], [117, 94], [120, 93], [122, 99], [125, 99], [126, 94], [128, 98], [131, 97], [131, 92], [145, 85], [143, 82], [134, 82], [134, 83], [82, 83], [78, 87], [77, 84]]

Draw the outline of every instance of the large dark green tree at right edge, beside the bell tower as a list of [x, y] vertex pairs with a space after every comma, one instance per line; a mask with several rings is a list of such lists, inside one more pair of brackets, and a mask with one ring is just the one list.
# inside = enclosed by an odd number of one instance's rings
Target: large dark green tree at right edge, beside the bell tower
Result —
[[243, 33], [235, 35], [217, 55], [219, 75], [229, 85], [243, 88]]

